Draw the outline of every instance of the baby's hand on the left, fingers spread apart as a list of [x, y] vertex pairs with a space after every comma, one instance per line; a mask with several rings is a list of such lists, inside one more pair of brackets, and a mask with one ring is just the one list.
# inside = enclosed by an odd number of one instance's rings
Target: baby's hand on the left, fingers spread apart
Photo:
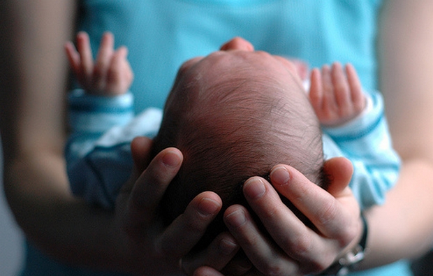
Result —
[[133, 80], [128, 50], [114, 50], [114, 38], [110, 32], [103, 34], [96, 60], [93, 60], [89, 36], [84, 31], [77, 34], [77, 49], [73, 43], [65, 45], [72, 71], [83, 89], [89, 94], [116, 96], [128, 91]]

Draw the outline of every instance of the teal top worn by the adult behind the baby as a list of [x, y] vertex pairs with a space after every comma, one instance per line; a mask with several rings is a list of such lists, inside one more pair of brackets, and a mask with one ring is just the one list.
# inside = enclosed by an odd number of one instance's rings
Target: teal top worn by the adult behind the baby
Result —
[[[104, 31], [129, 48], [135, 111], [162, 108], [177, 68], [234, 36], [256, 50], [310, 66], [351, 62], [363, 87], [376, 89], [376, 23], [380, 0], [82, 0], [79, 29], [94, 53]], [[113, 275], [52, 261], [28, 245], [22, 275]], [[411, 275], [406, 262], [353, 275]]]

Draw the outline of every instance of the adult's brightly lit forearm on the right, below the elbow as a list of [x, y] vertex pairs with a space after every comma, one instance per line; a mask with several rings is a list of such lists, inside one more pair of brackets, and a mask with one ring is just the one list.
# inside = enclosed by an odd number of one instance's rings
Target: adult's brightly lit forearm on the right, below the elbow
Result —
[[369, 253], [361, 268], [411, 259], [433, 245], [433, 166], [423, 160], [404, 161], [386, 204], [366, 213]]

